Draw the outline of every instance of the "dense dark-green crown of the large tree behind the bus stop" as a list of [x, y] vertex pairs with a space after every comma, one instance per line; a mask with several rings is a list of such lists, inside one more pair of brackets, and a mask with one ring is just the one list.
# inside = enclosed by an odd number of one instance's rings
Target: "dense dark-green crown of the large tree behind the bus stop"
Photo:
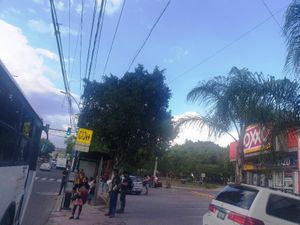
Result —
[[160, 155], [174, 137], [168, 111], [170, 89], [163, 70], [149, 73], [139, 65], [122, 78], [105, 76], [85, 81], [80, 127], [94, 130], [92, 150], [109, 152], [116, 166], [141, 168]]

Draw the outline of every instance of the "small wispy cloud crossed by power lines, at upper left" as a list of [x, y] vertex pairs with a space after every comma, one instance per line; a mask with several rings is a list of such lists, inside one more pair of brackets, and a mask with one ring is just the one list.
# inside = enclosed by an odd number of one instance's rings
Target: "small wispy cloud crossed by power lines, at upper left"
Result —
[[[53, 30], [53, 25], [51, 23], [46, 23], [43, 20], [29, 20], [28, 21], [28, 26], [31, 30], [42, 33], [42, 34], [49, 34], [49, 35], [53, 35], [54, 36], [54, 30]], [[69, 34], [69, 27], [66, 26], [59, 26], [59, 30], [61, 35], [68, 35]], [[77, 36], [79, 35], [79, 32], [74, 30], [74, 29], [70, 29], [70, 34], [72, 36]]]

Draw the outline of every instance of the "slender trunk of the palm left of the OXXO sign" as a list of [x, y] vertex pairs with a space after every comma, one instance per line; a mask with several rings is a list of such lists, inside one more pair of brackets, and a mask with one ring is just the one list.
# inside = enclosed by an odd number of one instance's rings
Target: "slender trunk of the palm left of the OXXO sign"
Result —
[[235, 163], [235, 184], [241, 184], [243, 180], [243, 167], [244, 167], [244, 136], [245, 129], [241, 127], [241, 135], [236, 150], [236, 163]]

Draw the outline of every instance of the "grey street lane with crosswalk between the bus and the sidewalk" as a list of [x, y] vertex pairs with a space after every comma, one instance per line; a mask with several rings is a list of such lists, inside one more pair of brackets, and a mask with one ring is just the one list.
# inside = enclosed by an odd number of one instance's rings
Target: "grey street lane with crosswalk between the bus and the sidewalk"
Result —
[[37, 171], [22, 225], [44, 225], [57, 198], [62, 170]]

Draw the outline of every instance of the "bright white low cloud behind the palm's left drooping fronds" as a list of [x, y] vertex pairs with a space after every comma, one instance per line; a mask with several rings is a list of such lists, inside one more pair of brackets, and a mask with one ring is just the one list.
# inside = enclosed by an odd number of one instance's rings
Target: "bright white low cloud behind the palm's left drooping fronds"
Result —
[[[198, 115], [196, 112], [186, 112], [181, 115], [174, 116], [174, 121], [178, 120], [179, 118], [182, 118], [184, 116], [195, 116]], [[237, 135], [234, 135], [237, 136]], [[233, 142], [232, 137], [229, 135], [223, 135], [220, 138], [215, 138], [215, 137], [209, 137], [208, 136], [208, 127], [204, 126], [202, 129], [200, 129], [197, 126], [193, 125], [186, 125], [182, 126], [179, 129], [179, 133], [177, 137], [173, 140], [174, 144], [179, 144], [182, 145], [184, 144], [187, 140], [197, 142], [197, 141], [212, 141], [222, 147], [226, 147], [229, 145], [231, 142]]]

